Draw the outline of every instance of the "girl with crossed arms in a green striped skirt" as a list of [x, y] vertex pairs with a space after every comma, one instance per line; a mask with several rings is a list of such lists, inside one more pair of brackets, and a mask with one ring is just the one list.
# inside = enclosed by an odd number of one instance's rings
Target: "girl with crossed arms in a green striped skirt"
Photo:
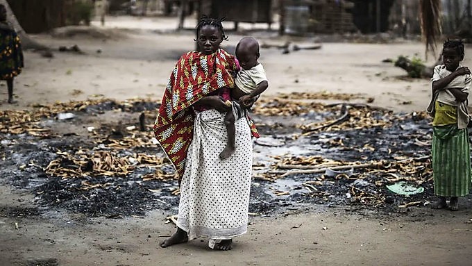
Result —
[[464, 59], [464, 44], [447, 40], [443, 47], [444, 65], [435, 67], [432, 76], [432, 100], [428, 113], [432, 121], [432, 170], [435, 194], [439, 199], [432, 208], [459, 210], [458, 197], [471, 189], [471, 161], [467, 124], [467, 96], [471, 85], [471, 71], [460, 62]]

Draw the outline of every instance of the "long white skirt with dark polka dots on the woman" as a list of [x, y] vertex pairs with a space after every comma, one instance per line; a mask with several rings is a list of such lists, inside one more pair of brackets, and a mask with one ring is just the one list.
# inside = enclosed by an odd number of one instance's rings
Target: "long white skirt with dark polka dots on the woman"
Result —
[[197, 113], [194, 138], [180, 184], [177, 226], [189, 239], [223, 240], [247, 231], [253, 163], [251, 129], [246, 119], [235, 122], [235, 153], [218, 156], [228, 141], [224, 113]]

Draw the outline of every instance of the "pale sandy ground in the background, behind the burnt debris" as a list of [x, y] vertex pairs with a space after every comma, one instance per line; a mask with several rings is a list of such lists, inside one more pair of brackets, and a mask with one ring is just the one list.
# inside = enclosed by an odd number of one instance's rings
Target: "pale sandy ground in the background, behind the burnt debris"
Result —
[[[68, 39], [36, 36], [56, 48], [78, 44], [86, 54], [56, 52], [54, 58], [47, 59], [37, 53], [26, 52], [26, 68], [15, 81], [19, 104], [4, 104], [5, 88], [1, 90], [0, 108], [25, 108], [36, 102], [81, 100], [97, 94], [119, 100], [151, 97], [160, 101], [176, 59], [194, 48], [194, 35], [192, 31], [153, 33], [149, 31], [152, 21], [147, 20], [144, 21], [144, 29], [138, 31], [135, 24], [140, 21], [132, 22], [127, 29], [106, 28], [115, 33], [119, 31], [121, 36], [108, 40], [83, 36]], [[169, 23], [167, 20], [164, 22]], [[153, 23], [158, 28], [163, 22]], [[161, 31], [164, 30], [161, 28]], [[285, 42], [285, 38], [274, 38], [273, 33], [256, 31], [251, 34], [261, 43]], [[228, 35], [230, 41], [224, 42], [224, 45], [232, 51], [242, 35], [233, 32]], [[298, 40], [297, 44], [309, 41]], [[101, 53], [96, 52], [99, 49]], [[414, 54], [423, 54], [421, 43], [323, 43], [322, 49], [292, 51], [287, 55], [275, 48], [262, 49], [260, 62], [264, 64], [270, 83], [265, 94], [319, 91], [359, 93], [364, 95], [364, 99], [357, 101], [365, 102], [366, 98], [373, 97], [375, 101], [372, 104], [376, 106], [405, 112], [423, 110], [428, 104], [429, 81], [403, 78], [405, 72], [402, 69], [391, 63], [382, 63], [386, 58], [394, 59], [399, 55], [411, 57]], [[464, 63], [467, 65], [469, 60]]]

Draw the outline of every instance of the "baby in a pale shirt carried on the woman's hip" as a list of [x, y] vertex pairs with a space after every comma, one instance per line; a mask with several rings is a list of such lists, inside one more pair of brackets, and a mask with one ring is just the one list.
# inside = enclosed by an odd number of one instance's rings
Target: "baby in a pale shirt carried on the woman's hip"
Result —
[[[259, 43], [251, 37], [239, 40], [236, 46], [236, 58], [241, 69], [235, 78], [235, 88], [231, 90], [232, 112], [226, 113], [225, 124], [228, 143], [219, 153], [219, 158], [225, 159], [235, 152], [235, 121], [246, 114], [246, 106], [251, 104], [264, 90], [269, 87], [262, 64], [258, 62]], [[238, 101], [239, 100], [239, 101]]]

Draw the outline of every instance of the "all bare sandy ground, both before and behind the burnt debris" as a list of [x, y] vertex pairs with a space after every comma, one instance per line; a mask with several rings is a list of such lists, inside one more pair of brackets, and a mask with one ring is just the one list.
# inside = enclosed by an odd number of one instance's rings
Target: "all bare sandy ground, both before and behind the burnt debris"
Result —
[[[15, 79], [19, 103], [6, 103], [2, 84], [0, 110], [101, 97], [160, 101], [176, 59], [194, 48], [193, 31], [175, 33], [175, 24], [175, 19], [160, 17], [110, 17], [95, 37], [36, 35], [51, 47], [77, 44], [85, 54], [55, 51], [53, 58], [44, 58], [26, 51], [26, 67]], [[192, 27], [191, 22], [186, 25]], [[224, 45], [229, 51], [243, 35], [254, 35], [264, 44], [289, 40], [262, 31], [264, 25], [242, 28], [247, 31], [227, 32], [229, 41]], [[328, 39], [290, 40], [308, 46]], [[427, 106], [429, 81], [405, 78], [403, 70], [382, 63], [399, 55], [423, 57], [423, 44], [404, 40], [321, 44], [321, 49], [290, 49], [287, 54], [262, 49], [260, 62], [270, 84], [264, 97], [328, 91], [362, 94], [353, 100], [360, 103], [373, 97], [371, 105], [396, 112]], [[470, 47], [464, 65], [472, 65], [468, 54]], [[470, 197], [461, 199], [458, 212], [427, 207], [412, 207], [406, 213], [369, 208], [353, 212], [348, 206], [302, 204], [276, 215], [251, 216], [248, 233], [235, 239], [233, 251], [217, 252], [207, 248], [205, 239], [158, 247], [175, 231], [165, 224], [165, 217], [174, 214], [176, 206], [121, 219], [89, 217], [42, 206], [31, 190], [0, 183], [0, 265], [470, 265], [472, 261]]]

